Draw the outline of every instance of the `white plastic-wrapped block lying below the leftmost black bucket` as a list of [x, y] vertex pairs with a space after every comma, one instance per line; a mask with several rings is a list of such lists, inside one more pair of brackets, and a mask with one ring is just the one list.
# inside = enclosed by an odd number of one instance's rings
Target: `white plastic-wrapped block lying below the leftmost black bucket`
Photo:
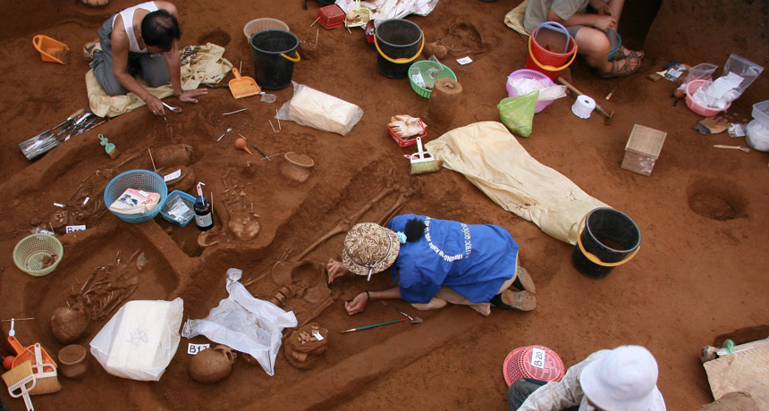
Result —
[[296, 81], [292, 81], [292, 84], [292, 99], [285, 102], [276, 115], [280, 120], [291, 120], [303, 126], [344, 136], [363, 117], [363, 110], [357, 105]]

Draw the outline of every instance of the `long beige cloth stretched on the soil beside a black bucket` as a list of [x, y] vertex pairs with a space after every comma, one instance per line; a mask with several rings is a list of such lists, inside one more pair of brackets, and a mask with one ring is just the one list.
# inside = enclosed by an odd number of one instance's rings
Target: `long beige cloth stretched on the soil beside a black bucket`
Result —
[[445, 168], [464, 174], [494, 203], [570, 244], [577, 242], [582, 217], [607, 207], [528, 155], [501, 122], [454, 129], [426, 147]]

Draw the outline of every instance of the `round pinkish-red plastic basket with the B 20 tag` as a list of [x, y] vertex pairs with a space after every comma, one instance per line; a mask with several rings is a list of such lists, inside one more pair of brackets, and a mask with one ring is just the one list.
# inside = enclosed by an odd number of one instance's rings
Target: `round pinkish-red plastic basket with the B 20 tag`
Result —
[[507, 355], [502, 365], [504, 382], [507, 382], [508, 387], [520, 378], [560, 381], [565, 372], [561, 357], [544, 346], [515, 348]]

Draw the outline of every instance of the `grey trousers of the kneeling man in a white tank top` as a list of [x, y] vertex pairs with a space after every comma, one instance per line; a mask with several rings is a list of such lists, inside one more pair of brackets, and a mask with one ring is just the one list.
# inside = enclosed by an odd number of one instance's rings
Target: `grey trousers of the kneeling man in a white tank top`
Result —
[[[102, 51], [94, 53], [94, 60], [91, 67], [94, 70], [99, 85], [104, 88], [106, 94], [110, 96], [122, 96], [128, 94], [128, 90], [114, 77], [112, 64], [112, 21], [115, 16], [110, 17], [101, 28], [98, 29], [98, 39], [101, 43]], [[168, 75], [168, 67], [165, 64], [163, 55], [151, 55], [149, 53], [128, 53], [128, 72], [131, 76], [141, 76], [149, 87], [160, 87], [171, 82]]]

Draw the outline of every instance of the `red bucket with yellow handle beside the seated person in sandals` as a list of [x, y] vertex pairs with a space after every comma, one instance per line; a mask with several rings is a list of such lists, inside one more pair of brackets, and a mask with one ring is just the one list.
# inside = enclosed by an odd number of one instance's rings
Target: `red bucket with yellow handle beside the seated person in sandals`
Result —
[[539, 71], [550, 80], [555, 81], [558, 74], [569, 67], [575, 57], [577, 41], [570, 36], [566, 28], [554, 21], [545, 21], [528, 38], [526, 68]]

